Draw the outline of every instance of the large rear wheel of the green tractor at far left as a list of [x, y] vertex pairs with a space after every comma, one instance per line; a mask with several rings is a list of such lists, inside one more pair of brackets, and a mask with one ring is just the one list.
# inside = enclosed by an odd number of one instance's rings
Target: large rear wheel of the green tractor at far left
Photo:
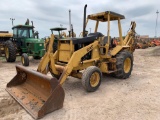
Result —
[[5, 42], [5, 57], [7, 62], [15, 62], [16, 60], [16, 48], [12, 41], [8, 40]]

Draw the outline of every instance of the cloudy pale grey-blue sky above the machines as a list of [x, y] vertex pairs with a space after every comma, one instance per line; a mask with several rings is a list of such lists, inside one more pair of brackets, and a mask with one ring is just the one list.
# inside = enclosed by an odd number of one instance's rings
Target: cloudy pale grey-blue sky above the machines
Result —
[[[87, 15], [104, 11], [113, 11], [125, 16], [121, 21], [122, 34], [126, 35], [130, 22], [135, 21], [136, 32], [150, 37], [160, 36], [160, 1], [158, 0], [1, 0], [0, 31], [12, 32], [14, 25], [24, 24], [27, 18], [34, 22], [35, 30], [41, 38], [50, 36], [50, 28], [62, 27], [69, 31], [69, 9], [71, 23], [78, 37], [83, 30], [83, 9], [87, 4]], [[157, 27], [156, 27], [157, 19]], [[86, 30], [94, 32], [95, 22], [89, 21]], [[156, 30], [157, 29], [157, 30]], [[156, 33], [157, 31], [157, 33]], [[107, 23], [100, 23], [98, 32], [107, 35]], [[57, 34], [56, 32], [54, 34]], [[117, 22], [111, 22], [111, 37], [117, 37]]]

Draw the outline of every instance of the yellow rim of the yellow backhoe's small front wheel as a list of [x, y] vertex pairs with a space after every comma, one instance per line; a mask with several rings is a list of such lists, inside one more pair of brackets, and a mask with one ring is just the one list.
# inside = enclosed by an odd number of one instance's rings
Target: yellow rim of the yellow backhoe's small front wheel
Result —
[[96, 87], [99, 84], [100, 76], [98, 72], [94, 72], [90, 77], [90, 85]]

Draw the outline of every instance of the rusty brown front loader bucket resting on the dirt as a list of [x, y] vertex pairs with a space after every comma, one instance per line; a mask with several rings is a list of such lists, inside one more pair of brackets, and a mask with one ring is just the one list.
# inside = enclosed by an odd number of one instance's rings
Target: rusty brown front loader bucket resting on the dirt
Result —
[[7, 84], [6, 90], [35, 119], [62, 108], [65, 94], [56, 78], [20, 65], [16, 70], [17, 75]]

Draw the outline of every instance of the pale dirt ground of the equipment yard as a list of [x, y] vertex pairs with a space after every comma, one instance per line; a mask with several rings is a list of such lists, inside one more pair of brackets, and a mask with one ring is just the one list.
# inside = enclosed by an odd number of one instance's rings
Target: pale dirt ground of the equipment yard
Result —
[[[31, 60], [28, 68], [36, 70], [38, 63]], [[21, 64], [20, 60], [0, 62], [0, 119], [33, 120], [5, 91], [6, 84], [16, 74], [15, 64]], [[63, 108], [42, 120], [160, 120], [160, 47], [136, 49], [128, 79], [103, 74], [99, 89], [87, 93], [79, 79], [68, 77], [63, 88]]]

